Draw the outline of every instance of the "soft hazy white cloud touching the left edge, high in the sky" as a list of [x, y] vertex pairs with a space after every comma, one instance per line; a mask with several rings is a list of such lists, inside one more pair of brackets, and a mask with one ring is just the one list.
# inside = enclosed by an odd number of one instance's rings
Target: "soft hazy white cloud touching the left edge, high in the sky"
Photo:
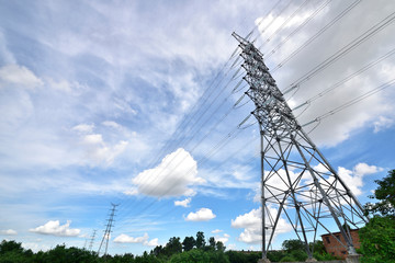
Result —
[[[5, 83], [16, 84], [29, 89], [34, 89], [44, 83], [31, 70], [19, 65], [8, 65], [0, 68], [0, 80]], [[1, 85], [0, 82], [0, 87]]]

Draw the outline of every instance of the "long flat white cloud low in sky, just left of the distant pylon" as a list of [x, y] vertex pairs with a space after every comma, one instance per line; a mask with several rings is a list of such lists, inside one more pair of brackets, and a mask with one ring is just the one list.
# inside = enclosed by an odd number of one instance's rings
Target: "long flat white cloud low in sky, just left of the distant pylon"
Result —
[[42, 235], [52, 235], [59, 237], [77, 237], [80, 233], [80, 229], [69, 228], [70, 220], [67, 220], [65, 225], [60, 225], [59, 220], [49, 220], [44, 226], [31, 228], [29, 231]]

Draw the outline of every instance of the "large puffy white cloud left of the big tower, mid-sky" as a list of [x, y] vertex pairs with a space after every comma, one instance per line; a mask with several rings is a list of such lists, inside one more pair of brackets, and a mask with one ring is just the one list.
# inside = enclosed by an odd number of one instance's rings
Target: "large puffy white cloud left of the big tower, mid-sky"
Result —
[[191, 196], [194, 191], [191, 185], [205, 181], [198, 175], [198, 163], [192, 156], [182, 148], [166, 156], [161, 163], [140, 172], [133, 179], [140, 194], [150, 196]]

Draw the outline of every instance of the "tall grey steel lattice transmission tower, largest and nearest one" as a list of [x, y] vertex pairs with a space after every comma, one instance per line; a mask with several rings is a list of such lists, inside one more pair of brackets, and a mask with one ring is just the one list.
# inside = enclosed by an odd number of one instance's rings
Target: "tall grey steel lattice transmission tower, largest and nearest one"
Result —
[[[241, 48], [246, 94], [255, 103], [261, 138], [262, 259], [281, 225], [293, 229], [304, 243], [329, 232], [348, 251], [349, 262], [358, 262], [350, 229], [363, 226], [363, 208], [336, 170], [303, 130], [275, 80], [263, 62], [263, 55], [247, 39], [233, 33]], [[280, 222], [280, 224], [279, 224]], [[330, 229], [338, 229], [342, 238]], [[286, 230], [285, 230], [286, 231]]]

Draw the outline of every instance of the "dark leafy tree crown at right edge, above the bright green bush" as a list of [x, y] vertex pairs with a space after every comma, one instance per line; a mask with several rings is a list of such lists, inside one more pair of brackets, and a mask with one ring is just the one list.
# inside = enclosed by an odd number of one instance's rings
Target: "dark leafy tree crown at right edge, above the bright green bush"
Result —
[[364, 207], [366, 215], [380, 213], [383, 216], [395, 217], [395, 170], [388, 171], [387, 176], [374, 182], [379, 184], [379, 187], [369, 197], [380, 202], [375, 204], [368, 203]]

